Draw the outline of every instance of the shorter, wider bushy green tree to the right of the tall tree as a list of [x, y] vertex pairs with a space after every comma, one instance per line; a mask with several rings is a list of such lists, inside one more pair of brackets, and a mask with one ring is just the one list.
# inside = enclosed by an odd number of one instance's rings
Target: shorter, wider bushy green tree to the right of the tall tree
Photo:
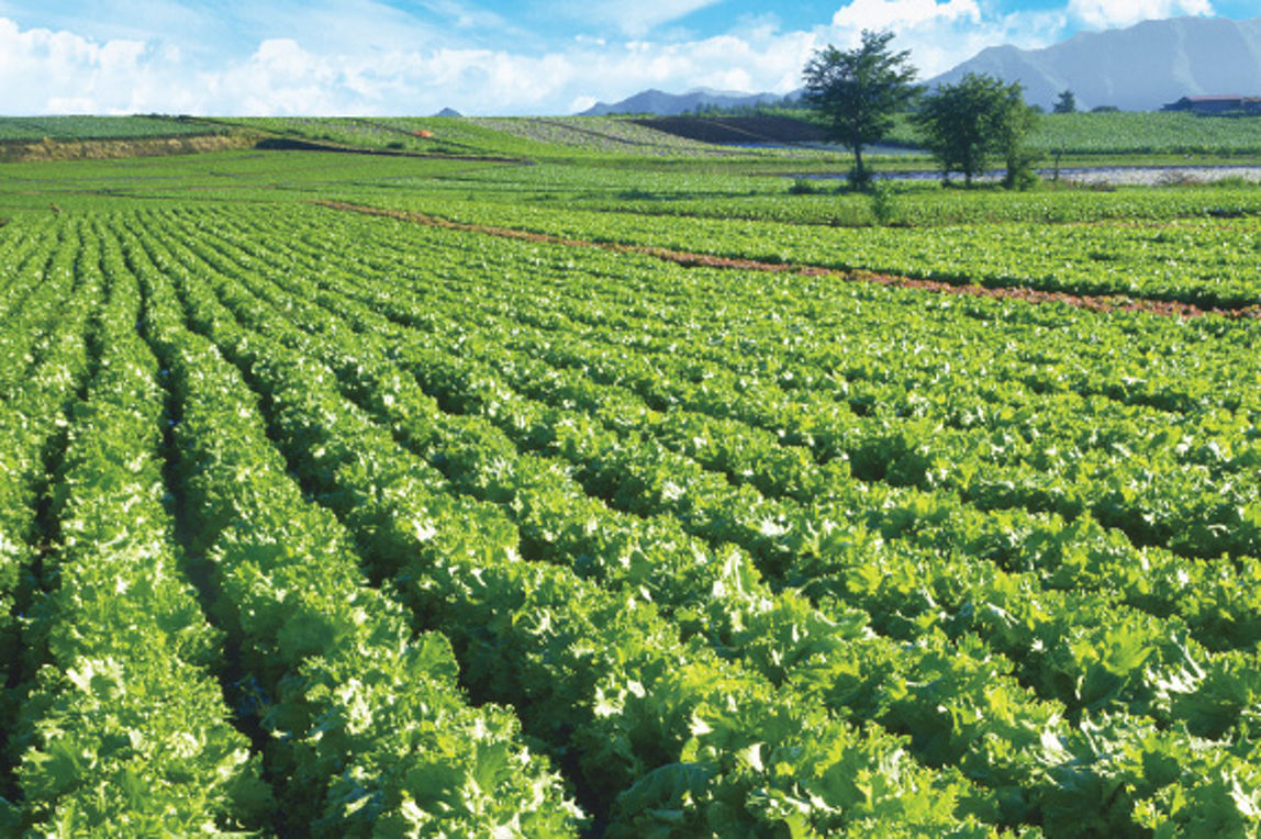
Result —
[[1025, 150], [1024, 140], [1035, 115], [1025, 105], [1019, 83], [1004, 84], [987, 73], [968, 73], [924, 97], [912, 120], [944, 178], [957, 171], [971, 184], [985, 171], [990, 156], [999, 155], [1008, 166], [1008, 186], [1031, 181], [1035, 156]]

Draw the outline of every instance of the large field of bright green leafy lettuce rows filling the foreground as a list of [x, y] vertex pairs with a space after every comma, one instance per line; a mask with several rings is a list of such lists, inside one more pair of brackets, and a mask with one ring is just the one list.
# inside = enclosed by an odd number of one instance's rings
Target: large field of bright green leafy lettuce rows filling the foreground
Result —
[[267, 154], [9, 170], [0, 833], [1261, 831], [1250, 188]]

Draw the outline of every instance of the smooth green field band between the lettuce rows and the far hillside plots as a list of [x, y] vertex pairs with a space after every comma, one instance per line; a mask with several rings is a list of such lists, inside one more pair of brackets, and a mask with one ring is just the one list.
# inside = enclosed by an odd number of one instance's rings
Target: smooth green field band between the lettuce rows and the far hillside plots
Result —
[[[475, 126], [474, 126], [475, 127]], [[489, 132], [488, 132], [489, 134]], [[562, 150], [554, 149], [554, 155]], [[832, 168], [841, 170], [844, 157]], [[876, 215], [871, 195], [810, 181], [792, 194], [787, 157], [580, 156], [484, 161], [416, 155], [240, 150], [125, 160], [10, 163], [0, 166], [0, 215], [21, 209], [150, 204], [275, 203], [334, 198], [424, 209], [434, 202], [487, 207], [596, 210], [630, 217], [743, 219], [823, 227], [939, 227], [1001, 222], [1073, 223], [1261, 214], [1261, 189], [1235, 179], [1221, 185], [1047, 185], [1028, 193], [995, 186], [947, 189], [936, 180], [886, 184]], [[881, 163], [881, 165], [885, 165]], [[921, 163], [921, 165], [928, 165]]]

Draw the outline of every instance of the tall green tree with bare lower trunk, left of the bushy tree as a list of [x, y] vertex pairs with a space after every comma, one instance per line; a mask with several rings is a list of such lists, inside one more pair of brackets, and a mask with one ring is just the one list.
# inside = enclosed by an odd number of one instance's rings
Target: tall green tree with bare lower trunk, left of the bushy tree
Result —
[[870, 174], [863, 146], [879, 142], [893, 128], [893, 115], [919, 94], [910, 53], [893, 53], [893, 33], [863, 31], [863, 44], [840, 50], [828, 44], [815, 52], [802, 76], [802, 100], [818, 113], [828, 139], [854, 152], [850, 183], [865, 186]]

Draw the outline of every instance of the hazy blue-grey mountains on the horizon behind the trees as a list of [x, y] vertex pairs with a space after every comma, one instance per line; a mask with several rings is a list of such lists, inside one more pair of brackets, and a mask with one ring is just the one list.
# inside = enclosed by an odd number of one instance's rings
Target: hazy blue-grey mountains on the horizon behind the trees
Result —
[[[1126, 29], [1078, 33], [1043, 49], [990, 47], [926, 84], [933, 88], [970, 72], [1020, 82], [1025, 100], [1047, 110], [1064, 89], [1073, 92], [1079, 110], [1155, 111], [1184, 96], [1261, 96], [1261, 18], [1148, 20]], [[683, 94], [644, 91], [612, 105], [600, 102], [584, 113], [675, 116], [704, 106], [753, 106], [782, 98], [707, 88]]]

